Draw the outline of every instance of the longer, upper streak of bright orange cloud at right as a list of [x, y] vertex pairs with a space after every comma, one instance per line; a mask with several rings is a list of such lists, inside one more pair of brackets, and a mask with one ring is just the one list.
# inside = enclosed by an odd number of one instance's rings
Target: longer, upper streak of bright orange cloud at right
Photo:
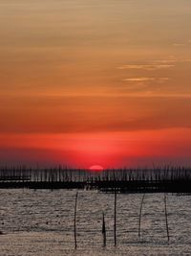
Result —
[[[165, 60], [166, 61], [166, 60]], [[169, 60], [168, 60], [169, 62]], [[166, 68], [172, 68], [175, 65], [173, 64], [128, 64], [118, 67], [118, 69], [144, 69], [144, 70], [157, 70], [157, 69], [166, 69]]]

